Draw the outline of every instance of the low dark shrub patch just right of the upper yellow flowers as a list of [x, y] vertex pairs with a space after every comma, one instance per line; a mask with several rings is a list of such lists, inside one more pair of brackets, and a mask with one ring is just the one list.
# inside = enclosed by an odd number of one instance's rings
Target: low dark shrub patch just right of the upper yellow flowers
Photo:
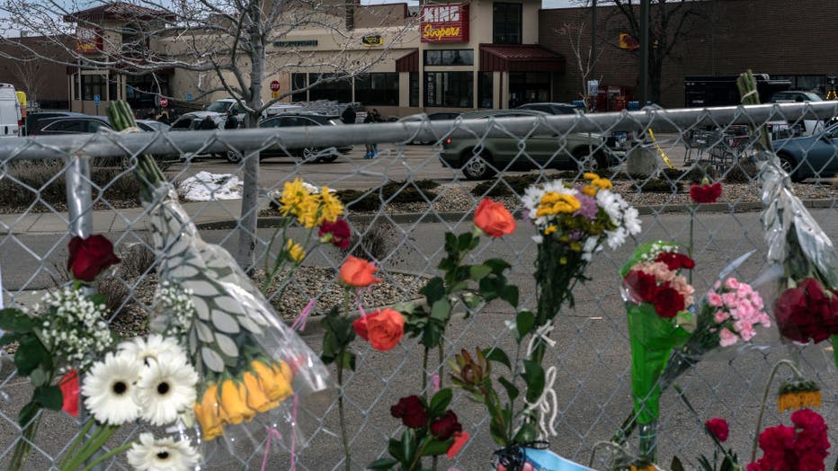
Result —
[[368, 191], [339, 190], [334, 196], [353, 211], [377, 211], [384, 204], [423, 203], [437, 197], [439, 183], [432, 180], [387, 182]]

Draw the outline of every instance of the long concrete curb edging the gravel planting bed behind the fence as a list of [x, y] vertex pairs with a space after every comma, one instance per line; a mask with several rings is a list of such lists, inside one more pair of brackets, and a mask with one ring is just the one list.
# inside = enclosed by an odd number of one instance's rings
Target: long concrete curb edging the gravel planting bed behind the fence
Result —
[[[829, 209], [838, 206], [838, 201], [836, 200], [803, 200], [803, 206], [809, 209]], [[635, 206], [637, 212], [642, 215], [653, 215], [653, 214], [668, 214], [668, 213], [687, 213], [689, 214], [692, 210], [692, 206], [688, 204], [663, 204], [663, 205], [646, 205], [646, 206]], [[697, 209], [697, 212], [707, 213], [707, 212], [715, 212], [715, 213], [744, 213], [744, 212], [756, 212], [762, 211], [762, 202], [760, 201], [750, 201], [744, 203], [738, 203], [735, 205], [731, 205], [730, 203], [709, 203], [709, 204], [702, 204]], [[386, 213], [385, 213], [386, 214]], [[379, 219], [389, 219], [397, 224], [428, 224], [428, 223], [439, 223], [439, 222], [460, 222], [466, 218], [469, 218], [471, 212], [461, 212], [461, 211], [451, 211], [451, 212], [441, 212], [441, 213], [397, 213], [397, 214], [387, 214], [386, 218], [379, 214], [359, 214], [348, 217], [349, 222], [356, 224], [356, 225], [368, 225], [371, 222], [374, 222]], [[515, 213], [516, 219], [522, 219], [521, 212]], [[278, 227], [283, 218], [280, 217], [270, 217], [270, 218], [257, 218], [256, 219], [256, 227], [260, 229], [271, 228], [271, 227]], [[201, 223], [196, 224], [201, 230], [218, 230], [218, 229], [235, 229], [238, 226], [238, 222], [236, 220], [222, 220], [216, 222], [208, 222], [208, 223]]]

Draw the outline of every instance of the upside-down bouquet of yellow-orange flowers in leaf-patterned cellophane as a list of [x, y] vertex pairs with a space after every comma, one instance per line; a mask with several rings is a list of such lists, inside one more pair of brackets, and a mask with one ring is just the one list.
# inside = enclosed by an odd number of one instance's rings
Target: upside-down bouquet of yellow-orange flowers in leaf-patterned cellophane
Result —
[[159, 184], [153, 194], [158, 277], [178, 301], [152, 324], [181, 334], [201, 377], [193, 412], [202, 455], [213, 463], [249, 455], [269, 434], [302, 448], [332, 398], [327, 369], [233, 257], [201, 239], [174, 190]]

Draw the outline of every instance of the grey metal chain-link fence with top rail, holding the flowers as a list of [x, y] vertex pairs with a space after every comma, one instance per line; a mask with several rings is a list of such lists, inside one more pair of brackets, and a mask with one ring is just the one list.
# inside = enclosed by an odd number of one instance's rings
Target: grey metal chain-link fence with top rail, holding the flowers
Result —
[[[272, 303], [291, 323], [316, 300], [315, 315], [339, 302], [336, 269], [347, 253], [378, 261], [384, 280], [363, 298], [372, 307], [419, 298], [423, 280], [437, 274], [442, 234], [471, 230], [471, 215], [489, 196], [521, 214], [519, 197], [531, 183], [553, 178], [581, 180], [595, 170], [611, 178], [641, 212], [643, 232], [617, 251], [594, 256], [590, 280], [575, 289], [574, 308], [557, 317], [552, 334], [556, 346], [545, 364], [557, 365], [551, 386], [557, 393], [558, 436], [550, 442], [557, 453], [587, 463], [594, 445], [609, 440], [631, 408], [629, 346], [625, 309], [618, 292], [617, 269], [637, 244], [689, 239], [691, 182], [708, 176], [724, 184], [718, 203], [695, 215], [697, 292], [708, 289], [718, 272], [742, 253], [757, 253], [736, 270], [754, 280], [766, 269], [759, 210], [760, 182], [753, 164], [754, 126], [775, 138], [774, 146], [794, 180], [798, 196], [830, 236], [838, 235], [834, 175], [838, 174], [838, 127], [832, 126], [834, 102], [729, 107], [712, 110], [644, 110], [637, 112], [548, 116], [518, 111], [476, 112], [454, 121], [409, 118], [369, 125], [323, 125], [314, 128], [270, 128], [234, 131], [168, 133], [100, 132], [49, 138], [0, 140], [0, 269], [6, 306], [31, 306], [45, 290], [67, 280], [64, 264], [68, 238], [101, 233], [118, 248], [122, 263], [98, 289], [110, 298], [111, 328], [123, 336], [147, 333], [156, 289], [155, 256], [146, 210], [139, 205], [138, 184], [131, 172], [140, 153], [156, 156], [166, 177], [175, 183], [183, 207], [201, 229], [201, 236], [241, 253], [239, 240], [255, 242], [254, 277], [260, 270], [278, 212], [272, 206], [284, 182], [302, 178], [317, 187], [336, 190], [352, 223], [347, 252], [318, 245], [281, 296]], [[474, 118], [474, 119], [466, 119]], [[790, 140], [804, 120], [821, 128], [812, 136]], [[750, 125], [750, 127], [748, 126]], [[432, 141], [432, 145], [415, 142]], [[376, 145], [373, 147], [373, 145]], [[370, 154], [375, 158], [370, 157]], [[240, 198], [246, 162], [259, 159], [257, 207], [242, 208]], [[211, 173], [211, 174], [209, 174]], [[256, 217], [257, 227], [241, 221]], [[511, 278], [521, 289], [521, 304], [535, 305], [532, 277], [535, 258], [531, 227], [521, 224], [512, 236], [484, 241], [477, 259], [500, 257], [513, 264]], [[275, 249], [273, 249], [275, 251]], [[447, 331], [444, 358], [460, 349], [513, 348], [506, 324], [513, 312], [490, 304], [476, 315], [458, 318]], [[316, 317], [300, 333], [319, 351], [322, 331]], [[730, 445], [747, 462], [763, 388], [772, 364], [789, 354], [775, 329], [760, 333], [757, 348], [705, 360], [685, 375], [691, 413], [672, 392], [662, 400], [660, 452], [664, 464], [678, 455], [691, 469], [701, 452], [712, 447], [701, 429], [711, 417], [731, 423]], [[828, 342], [827, 342], [828, 343]], [[807, 374], [824, 388], [820, 412], [838, 423], [836, 377], [832, 352], [824, 343], [803, 349]], [[380, 352], [356, 344], [357, 369], [345, 378], [352, 468], [361, 469], [387, 454], [388, 439], [400, 433], [389, 407], [398, 398], [420, 393], [421, 348], [406, 339], [396, 350]], [[2, 359], [0, 378], [0, 462], [5, 466], [21, 440], [17, 413], [30, 391], [15, 374], [13, 349]], [[435, 368], [436, 362], [432, 364]], [[442, 378], [450, 385], [449, 378]], [[439, 468], [486, 469], [495, 449], [488, 418], [455, 390], [452, 407], [471, 434], [454, 459]], [[45, 413], [28, 468], [48, 469], [67, 453], [79, 422], [59, 413]], [[763, 423], [788, 423], [788, 417], [767, 413]], [[123, 427], [108, 448], [138, 438], [139, 428]], [[829, 431], [838, 443], [834, 427]], [[265, 437], [267, 439], [267, 435]], [[287, 449], [272, 446], [266, 469], [289, 468]], [[239, 456], [227, 468], [263, 467], [263, 450]], [[329, 406], [306, 449], [294, 457], [298, 469], [343, 467], [343, 446], [335, 404]], [[593, 467], [603, 467], [595, 462]], [[827, 467], [834, 466], [834, 458]], [[109, 467], [127, 467], [124, 459]], [[206, 469], [213, 469], [207, 463]]]

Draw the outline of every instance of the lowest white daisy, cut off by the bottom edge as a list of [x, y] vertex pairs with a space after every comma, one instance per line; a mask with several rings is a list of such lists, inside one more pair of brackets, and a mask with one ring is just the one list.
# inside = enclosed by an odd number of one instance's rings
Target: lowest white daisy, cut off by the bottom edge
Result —
[[151, 433], [140, 433], [139, 442], [127, 455], [129, 465], [137, 471], [189, 471], [201, 460], [188, 441], [172, 437], [155, 440]]

